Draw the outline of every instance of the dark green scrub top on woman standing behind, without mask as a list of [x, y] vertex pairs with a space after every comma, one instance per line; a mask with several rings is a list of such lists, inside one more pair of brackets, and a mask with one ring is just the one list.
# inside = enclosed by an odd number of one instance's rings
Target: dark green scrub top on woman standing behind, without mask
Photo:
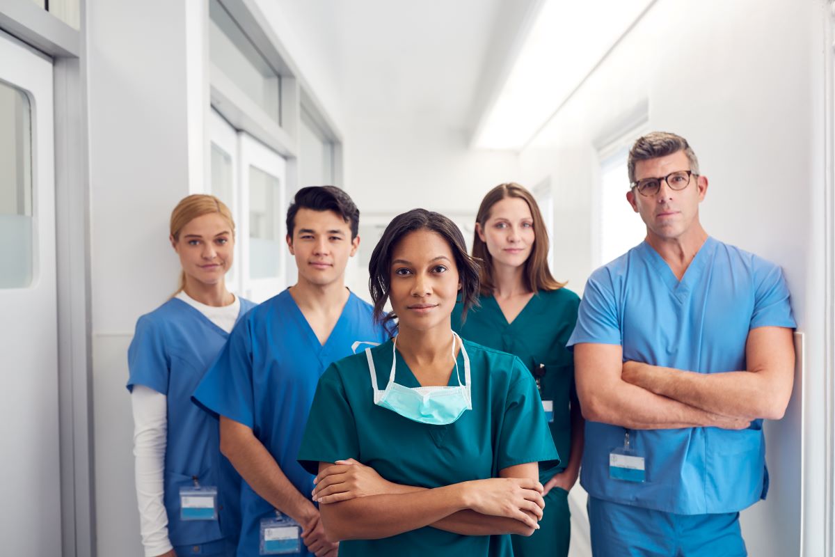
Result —
[[471, 307], [461, 323], [462, 305], [453, 311], [453, 329], [463, 338], [496, 350], [509, 352], [528, 367], [539, 384], [539, 395], [553, 401], [553, 421], [549, 428], [559, 452], [555, 468], [540, 466], [544, 484], [562, 472], [569, 462], [571, 418], [569, 403], [579, 404], [574, 390], [574, 355], [566, 343], [577, 322], [579, 296], [567, 288], [539, 291], [524, 306], [513, 322], [504, 318], [493, 296], [481, 296], [480, 307]]

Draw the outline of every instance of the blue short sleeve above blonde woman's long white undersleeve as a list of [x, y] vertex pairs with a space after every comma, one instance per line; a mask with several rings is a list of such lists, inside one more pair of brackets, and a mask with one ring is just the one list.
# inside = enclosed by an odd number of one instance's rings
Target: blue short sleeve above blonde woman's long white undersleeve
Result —
[[144, 385], [167, 395], [170, 368], [162, 326], [149, 316], [139, 317], [128, 348], [128, 390], [132, 392], [134, 385]]

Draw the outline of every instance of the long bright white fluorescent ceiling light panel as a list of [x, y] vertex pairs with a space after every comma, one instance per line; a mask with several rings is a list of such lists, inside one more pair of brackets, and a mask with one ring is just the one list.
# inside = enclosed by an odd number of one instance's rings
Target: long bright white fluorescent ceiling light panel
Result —
[[473, 147], [522, 149], [651, 2], [546, 0]]

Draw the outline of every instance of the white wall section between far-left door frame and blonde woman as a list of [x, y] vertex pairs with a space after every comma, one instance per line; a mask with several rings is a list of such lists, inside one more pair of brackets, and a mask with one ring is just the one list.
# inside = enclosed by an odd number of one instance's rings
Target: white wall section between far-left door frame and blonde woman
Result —
[[[191, 0], [87, 3], [96, 536], [99, 555], [142, 555], [127, 348], [139, 315], [175, 290], [168, 219], [201, 179], [200, 59], [187, 63]], [[196, 13], [195, 13], [196, 11]], [[160, 14], [164, 14], [161, 17]], [[187, 72], [187, 69], [190, 71]], [[196, 70], [196, 71], [195, 71]], [[196, 94], [196, 97], [195, 97]], [[206, 97], [207, 99], [207, 97]], [[192, 119], [190, 121], [190, 119]], [[200, 154], [200, 148], [198, 153]], [[190, 169], [189, 165], [196, 165]]]

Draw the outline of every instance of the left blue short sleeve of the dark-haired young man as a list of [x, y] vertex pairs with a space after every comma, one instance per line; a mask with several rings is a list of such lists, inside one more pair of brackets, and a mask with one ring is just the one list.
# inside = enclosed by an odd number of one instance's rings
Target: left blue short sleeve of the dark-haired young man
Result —
[[240, 319], [215, 363], [192, 396], [195, 403], [215, 415], [255, 428], [252, 394], [251, 321]]

